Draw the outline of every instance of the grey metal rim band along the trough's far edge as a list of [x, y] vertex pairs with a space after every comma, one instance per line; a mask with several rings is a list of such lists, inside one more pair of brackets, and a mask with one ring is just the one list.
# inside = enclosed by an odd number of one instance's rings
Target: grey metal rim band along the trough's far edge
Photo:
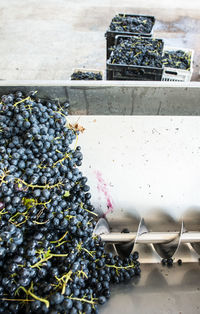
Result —
[[200, 115], [200, 83], [2, 81], [0, 95], [37, 90], [73, 115]]

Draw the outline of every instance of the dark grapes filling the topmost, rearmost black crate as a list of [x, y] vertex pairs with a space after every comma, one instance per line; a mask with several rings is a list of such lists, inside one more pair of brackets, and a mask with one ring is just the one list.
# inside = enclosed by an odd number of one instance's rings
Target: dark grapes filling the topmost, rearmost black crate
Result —
[[112, 19], [110, 30], [150, 34], [153, 25], [154, 19], [148, 16], [127, 16], [118, 14]]

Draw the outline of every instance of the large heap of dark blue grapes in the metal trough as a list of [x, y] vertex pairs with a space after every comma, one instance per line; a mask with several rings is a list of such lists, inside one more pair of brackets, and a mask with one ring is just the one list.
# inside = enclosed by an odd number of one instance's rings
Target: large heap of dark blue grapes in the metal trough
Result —
[[0, 313], [98, 313], [111, 283], [140, 274], [93, 235], [97, 214], [79, 170], [69, 104], [36, 92], [0, 103]]

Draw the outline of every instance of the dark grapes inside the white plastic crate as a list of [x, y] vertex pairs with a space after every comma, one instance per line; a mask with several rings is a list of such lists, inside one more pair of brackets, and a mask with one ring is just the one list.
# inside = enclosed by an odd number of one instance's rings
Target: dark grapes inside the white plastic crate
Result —
[[165, 67], [190, 70], [191, 54], [182, 50], [165, 51], [162, 62]]

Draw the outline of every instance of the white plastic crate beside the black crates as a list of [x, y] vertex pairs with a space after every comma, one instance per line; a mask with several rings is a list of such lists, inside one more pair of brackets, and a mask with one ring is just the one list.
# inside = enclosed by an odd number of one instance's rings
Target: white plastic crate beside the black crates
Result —
[[193, 73], [194, 50], [189, 48], [165, 47], [164, 52], [177, 50], [182, 50], [191, 54], [190, 70], [164, 67], [162, 81], [190, 82]]

